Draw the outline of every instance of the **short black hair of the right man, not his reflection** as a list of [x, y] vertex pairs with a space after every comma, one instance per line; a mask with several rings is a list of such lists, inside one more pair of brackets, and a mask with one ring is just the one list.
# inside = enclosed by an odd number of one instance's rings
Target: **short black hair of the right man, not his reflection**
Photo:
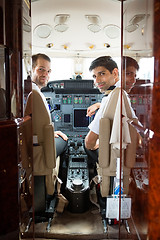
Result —
[[110, 56], [102, 56], [92, 61], [89, 71], [92, 71], [96, 67], [105, 67], [110, 73], [114, 68], [118, 69], [117, 63]]

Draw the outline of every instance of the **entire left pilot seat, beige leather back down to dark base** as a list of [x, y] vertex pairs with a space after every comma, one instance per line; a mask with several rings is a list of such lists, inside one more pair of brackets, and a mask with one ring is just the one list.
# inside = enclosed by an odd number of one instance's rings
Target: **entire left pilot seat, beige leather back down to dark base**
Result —
[[28, 114], [32, 116], [35, 220], [51, 221], [56, 203], [55, 187], [60, 159], [56, 158], [54, 126], [49, 108], [40, 91], [32, 90], [29, 94], [25, 109], [25, 115]]

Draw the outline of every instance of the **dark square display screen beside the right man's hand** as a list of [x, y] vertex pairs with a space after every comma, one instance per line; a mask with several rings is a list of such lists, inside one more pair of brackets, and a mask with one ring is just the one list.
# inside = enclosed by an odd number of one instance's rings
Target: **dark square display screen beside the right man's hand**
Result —
[[89, 117], [86, 117], [87, 109], [74, 109], [74, 128], [86, 128], [89, 125]]

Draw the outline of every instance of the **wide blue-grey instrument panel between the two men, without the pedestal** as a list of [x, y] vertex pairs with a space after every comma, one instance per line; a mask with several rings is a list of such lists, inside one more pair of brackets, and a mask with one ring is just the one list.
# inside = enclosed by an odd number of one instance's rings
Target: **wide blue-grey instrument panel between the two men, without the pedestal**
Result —
[[[68, 81], [69, 88], [66, 86], [65, 89], [65, 82]], [[86, 116], [87, 108], [102, 99], [102, 94], [93, 87], [92, 80], [54, 81], [53, 85], [49, 83], [48, 89], [43, 90], [43, 94], [48, 102], [55, 130], [69, 136], [88, 132], [88, 125], [94, 116]]]

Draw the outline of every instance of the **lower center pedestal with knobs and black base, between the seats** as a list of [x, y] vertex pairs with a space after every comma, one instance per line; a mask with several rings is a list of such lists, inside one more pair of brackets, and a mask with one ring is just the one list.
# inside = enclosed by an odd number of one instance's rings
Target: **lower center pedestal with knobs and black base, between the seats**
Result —
[[69, 210], [82, 213], [89, 207], [89, 174], [86, 155], [69, 157], [66, 196]]

